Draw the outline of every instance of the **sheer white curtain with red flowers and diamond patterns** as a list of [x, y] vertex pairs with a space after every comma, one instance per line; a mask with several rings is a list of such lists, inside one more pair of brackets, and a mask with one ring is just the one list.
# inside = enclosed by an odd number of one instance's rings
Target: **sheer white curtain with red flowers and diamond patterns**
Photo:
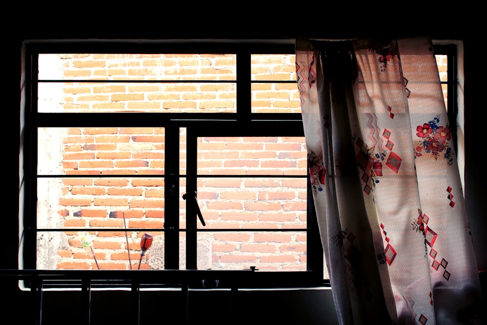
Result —
[[296, 69], [339, 323], [475, 324], [483, 297], [431, 39], [298, 40]]

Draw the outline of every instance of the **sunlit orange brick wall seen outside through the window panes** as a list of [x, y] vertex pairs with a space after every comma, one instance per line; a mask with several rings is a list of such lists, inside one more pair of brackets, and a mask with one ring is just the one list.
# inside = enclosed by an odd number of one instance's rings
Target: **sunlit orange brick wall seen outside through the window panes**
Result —
[[[65, 82], [39, 85], [40, 112], [235, 112], [236, 84], [198, 80], [236, 79], [233, 55], [43, 55], [39, 79], [170, 80], [174, 82]], [[253, 56], [252, 80], [296, 80], [293, 55]], [[179, 83], [178, 80], [196, 80]], [[252, 111], [300, 112], [295, 83], [254, 83]], [[39, 129], [39, 174], [84, 175], [39, 179], [38, 268], [137, 268], [141, 228], [164, 227], [164, 128]], [[186, 172], [186, 130], [180, 130], [180, 173]], [[200, 138], [198, 173], [306, 174], [303, 138]], [[97, 177], [99, 175], [123, 177]], [[86, 176], [90, 175], [90, 176]], [[131, 175], [152, 175], [135, 178]], [[155, 175], [155, 176], [154, 176]], [[161, 175], [161, 177], [157, 177]], [[181, 178], [179, 193], [186, 191]], [[304, 178], [200, 178], [198, 203], [205, 229], [306, 228]], [[180, 198], [180, 228], [186, 227]], [[89, 231], [96, 258], [81, 247], [70, 228]], [[199, 228], [202, 228], [198, 224]], [[127, 229], [127, 232], [125, 231]], [[164, 268], [163, 232], [141, 268]], [[128, 237], [128, 239], [126, 238]], [[45, 249], [48, 245], [49, 249]], [[44, 248], [44, 249], [43, 249]], [[185, 268], [185, 233], [180, 240]], [[198, 268], [306, 269], [306, 233], [203, 232], [198, 236]]]

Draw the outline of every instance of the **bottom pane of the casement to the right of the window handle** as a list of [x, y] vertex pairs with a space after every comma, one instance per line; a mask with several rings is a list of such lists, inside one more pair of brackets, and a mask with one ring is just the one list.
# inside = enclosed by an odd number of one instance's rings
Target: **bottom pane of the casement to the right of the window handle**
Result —
[[198, 269], [306, 270], [306, 232], [198, 232]]

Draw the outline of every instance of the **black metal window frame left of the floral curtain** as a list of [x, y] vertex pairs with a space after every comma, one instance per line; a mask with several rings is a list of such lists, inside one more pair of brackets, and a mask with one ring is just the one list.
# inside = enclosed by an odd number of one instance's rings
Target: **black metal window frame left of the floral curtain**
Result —
[[[234, 81], [237, 86], [237, 112], [236, 113], [196, 113], [189, 117], [187, 113], [39, 113], [37, 112], [37, 65], [38, 54], [44, 53], [144, 53], [144, 54], [211, 54], [211, 53], [228, 53], [236, 54], [237, 57], [237, 79]], [[63, 229], [37, 229], [37, 129], [40, 127], [110, 127], [110, 126], [125, 126], [125, 127], [164, 127], [166, 129], [166, 143], [168, 138], [172, 145], [169, 145], [169, 149], [166, 149], [166, 166], [165, 166], [165, 214], [174, 214], [174, 210], [179, 210], [179, 197], [174, 198], [174, 194], [171, 195], [170, 187], [174, 182], [178, 182], [179, 174], [168, 171], [178, 171], [179, 156], [176, 153], [178, 150], [174, 150], [174, 144], [177, 141], [172, 142], [178, 135], [180, 128], [187, 128], [188, 133], [194, 136], [207, 136], [207, 134], [215, 134], [215, 130], [223, 130], [224, 134], [246, 136], [255, 135], [276, 135], [280, 136], [304, 136], [302, 130], [302, 119], [300, 113], [252, 113], [251, 112], [251, 84], [250, 71], [251, 71], [251, 54], [295, 54], [294, 40], [233, 40], [233, 41], [28, 41], [26, 42], [26, 98], [27, 103], [25, 107], [25, 134], [24, 134], [24, 152], [23, 152], [23, 164], [24, 164], [24, 202], [23, 211], [24, 215], [19, 215], [23, 223], [23, 246], [22, 248], [22, 265], [24, 269], [36, 270], [36, 242], [37, 231], [63, 231]], [[247, 76], [242, 78], [242, 76]], [[49, 80], [51, 81], [51, 80]], [[58, 80], [61, 81], [61, 80]], [[62, 80], [67, 82], [70, 80]], [[86, 80], [75, 80], [76, 82], [82, 82]], [[91, 80], [90, 80], [91, 81]], [[110, 83], [112, 80], [106, 80]], [[127, 80], [127, 82], [130, 82]], [[179, 82], [179, 81], [178, 81]], [[194, 82], [194, 81], [193, 81]], [[223, 82], [223, 81], [222, 81]], [[256, 81], [262, 82], [262, 81]], [[275, 82], [275, 81], [272, 81]], [[93, 118], [93, 114], [98, 117], [96, 120]], [[100, 122], [102, 121], [102, 122]], [[153, 121], [157, 121], [154, 123]], [[199, 128], [201, 123], [205, 123], [206, 129]], [[192, 130], [198, 130], [193, 132]], [[189, 131], [191, 130], [191, 131]], [[275, 130], [280, 130], [276, 132]], [[203, 135], [204, 134], [204, 135]], [[221, 136], [221, 134], [220, 134]], [[188, 155], [196, 153], [195, 143], [189, 144], [188, 141]], [[168, 154], [169, 153], [169, 154]], [[196, 160], [187, 160], [188, 170], [193, 172], [190, 174], [187, 172], [186, 177], [194, 180], [190, 182], [190, 186], [196, 184]], [[189, 174], [189, 175], [188, 175]], [[79, 175], [76, 175], [79, 176]], [[110, 175], [111, 177], [117, 175]], [[148, 177], [150, 175], [144, 175]], [[42, 177], [42, 176], [41, 176]], [[56, 177], [56, 175], [45, 175], [45, 177]], [[69, 177], [62, 175], [62, 177]], [[97, 176], [98, 177], [98, 176]], [[131, 175], [132, 177], [132, 175]], [[319, 239], [318, 223], [316, 219], [316, 213], [314, 213], [313, 195], [310, 186], [309, 177], [307, 177], [308, 183], [308, 197], [307, 197], [307, 270], [306, 271], [279, 271], [279, 272], [265, 272], [258, 271], [252, 276], [251, 282], [245, 284], [240, 273], [231, 275], [231, 272], [226, 271], [214, 271], [215, 274], [221, 275], [222, 278], [229, 279], [228, 287], [232, 285], [230, 282], [238, 281], [239, 287], [253, 287], [253, 288], [266, 288], [266, 287], [320, 287], [328, 286], [329, 280], [323, 279], [323, 250], [321, 248], [321, 241]], [[189, 186], [189, 187], [190, 187]], [[188, 186], [187, 186], [188, 188]], [[172, 198], [172, 199], [171, 199]], [[178, 258], [175, 250], [168, 249], [169, 245], [165, 245], [165, 255], [168, 254], [169, 264], [166, 268], [169, 268], [170, 272], [166, 270], [150, 270], [151, 275], [147, 276], [147, 272], [144, 272], [146, 277], [146, 285], [155, 285], [154, 277], [163, 277], [168, 275], [168, 281], [156, 281], [159, 285], [168, 285], [171, 283], [174, 276], [176, 278], [188, 277], [187, 281], [192, 283], [192, 286], [199, 287], [200, 281], [198, 279], [201, 275], [195, 275], [193, 272], [196, 269], [196, 213], [195, 206], [191, 201], [187, 201], [187, 215], [194, 214], [195, 218], [187, 218], [187, 232], [189, 231], [191, 237], [189, 243], [187, 243], [187, 270], [191, 272], [185, 272], [184, 270], [175, 271], [179, 268]], [[22, 213], [22, 210], [19, 211]], [[165, 218], [165, 236], [168, 238], [169, 228], [179, 231], [176, 218]], [[171, 221], [172, 220], [172, 224]], [[70, 231], [82, 231], [86, 229], [69, 229]], [[94, 229], [98, 230], [98, 229]], [[120, 229], [107, 229], [103, 230], [120, 230]], [[137, 229], [138, 231], [151, 231], [161, 229]], [[253, 229], [258, 231], [258, 229]], [[172, 232], [175, 233], [175, 232]], [[178, 232], [179, 233], [179, 232]], [[193, 236], [194, 234], [194, 236]], [[177, 235], [178, 236], [178, 235]], [[173, 238], [174, 240], [174, 238]], [[70, 276], [62, 276], [62, 274], [82, 274], [83, 279], [94, 280], [99, 278], [99, 275], [94, 272], [99, 270], [82, 270], [81, 272], [66, 272], [66, 270], [53, 270], [47, 273], [54, 275], [56, 280], [52, 280], [52, 287], [69, 287], [66, 282], [70, 279]], [[104, 274], [109, 274], [108, 279], [130, 279], [140, 281], [140, 274], [137, 272], [131, 273], [126, 270], [110, 270]], [[201, 274], [207, 274], [208, 272], [198, 270]], [[133, 273], [132, 273], [133, 272]], [[165, 272], [165, 273], [162, 273]], [[176, 275], [173, 275], [176, 272]], [[46, 273], [46, 272], [40, 272]], [[140, 273], [140, 272], [139, 272]], [[253, 272], [254, 273], [254, 272]], [[157, 276], [155, 274], [158, 274]], [[170, 275], [169, 275], [170, 274]], [[180, 275], [178, 275], [180, 274]], [[227, 275], [228, 274], [228, 275]], [[103, 276], [107, 277], [106, 275]], [[107, 279], [107, 280], [108, 280]], [[150, 280], [149, 280], [150, 279]], [[107, 281], [99, 283], [100, 287], [111, 287]], [[26, 287], [31, 287], [30, 283], [27, 283]], [[44, 284], [46, 287], [46, 284]], [[225, 287], [225, 282], [221, 287]]]

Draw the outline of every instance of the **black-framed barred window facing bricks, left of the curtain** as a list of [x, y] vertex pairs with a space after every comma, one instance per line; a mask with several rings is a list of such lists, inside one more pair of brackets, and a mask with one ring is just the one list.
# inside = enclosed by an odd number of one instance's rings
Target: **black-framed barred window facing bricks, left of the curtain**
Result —
[[22, 268], [327, 282], [294, 42], [35, 42], [27, 58]]

